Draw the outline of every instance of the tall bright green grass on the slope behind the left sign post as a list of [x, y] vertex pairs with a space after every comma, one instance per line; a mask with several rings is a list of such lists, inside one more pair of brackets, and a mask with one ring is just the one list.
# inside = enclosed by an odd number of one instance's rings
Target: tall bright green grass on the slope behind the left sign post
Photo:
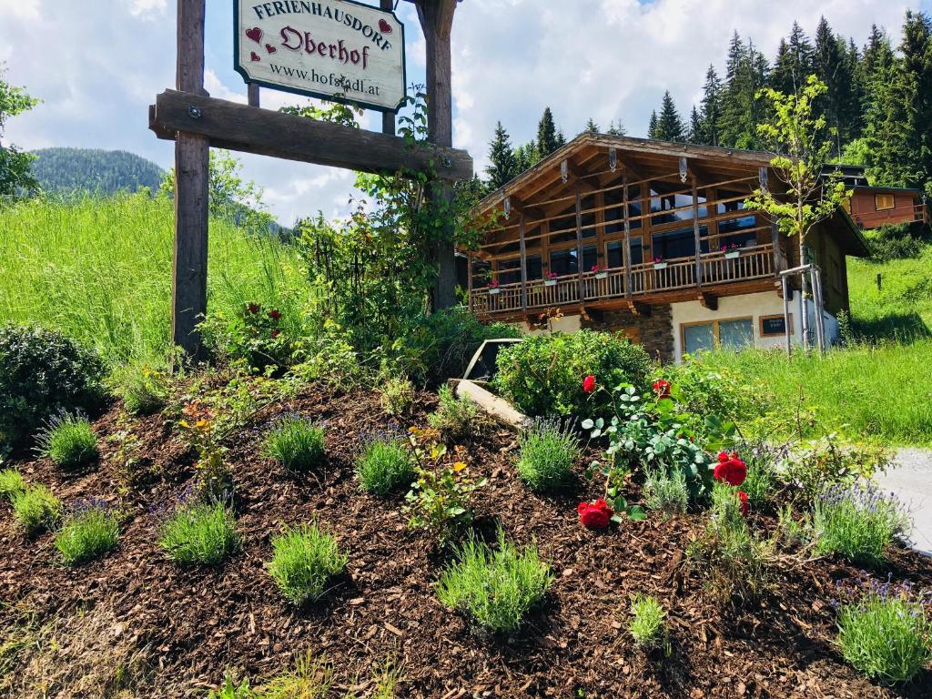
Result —
[[[164, 356], [171, 338], [173, 204], [145, 194], [0, 209], [0, 322], [37, 322], [111, 363]], [[212, 220], [208, 307], [282, 311], [308, 286], [295, 251]], [[286, 313], [286, 317], [299, 317]]]

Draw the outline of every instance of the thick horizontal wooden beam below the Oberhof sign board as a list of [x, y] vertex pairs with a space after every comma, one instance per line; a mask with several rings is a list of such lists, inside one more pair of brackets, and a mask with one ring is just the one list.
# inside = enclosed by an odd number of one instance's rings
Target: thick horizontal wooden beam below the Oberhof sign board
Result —
[[149, 129], [158, 138], [200, 133], [215, 148], [255, 153], [364, 172], [427, 171], [444, 180], [473, 176], [473, 158], [464, 150], [405, 144], [386, 133], [281, 114], [167, 89], [149, 108]]

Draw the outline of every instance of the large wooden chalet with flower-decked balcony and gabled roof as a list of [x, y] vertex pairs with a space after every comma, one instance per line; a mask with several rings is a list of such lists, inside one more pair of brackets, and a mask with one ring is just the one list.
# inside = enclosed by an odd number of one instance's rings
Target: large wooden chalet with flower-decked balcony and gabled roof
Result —
[[[799, 248], [744, 204], [761, 176], [779, 185], [770, 158], [584, 133], [479, 203], [489, 227], [464, 253], [469, 306], [527, 332], [624, 332], [665, 361], [780, 346], [779, 271], [799, 265]], [[869, 250], [841, 209], [807, 248], [822, 270], [830, 339], [848, 308], [845, 257]], [[791, 296], [798, 340], [801, 295]]]

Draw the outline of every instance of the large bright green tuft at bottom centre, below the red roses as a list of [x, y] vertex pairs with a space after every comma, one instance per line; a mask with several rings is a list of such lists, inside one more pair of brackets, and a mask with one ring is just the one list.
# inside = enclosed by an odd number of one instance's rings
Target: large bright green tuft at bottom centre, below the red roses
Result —
[[468, 613], [489, 631], [516, 631], [553, 582], [537, 548], [519, 552], [501, 529], [496, 550], [470, 537], [457, 553], [459, 561], [437, 583], [437, 596], [445, 607]]

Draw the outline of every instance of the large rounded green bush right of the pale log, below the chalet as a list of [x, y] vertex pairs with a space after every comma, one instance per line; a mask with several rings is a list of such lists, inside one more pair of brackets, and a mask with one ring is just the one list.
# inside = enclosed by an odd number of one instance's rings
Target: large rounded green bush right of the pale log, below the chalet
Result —
[[604, 393], [583, 391], [583, 378], [598, 386], [623, 383], [644, 388], [651, 358], [624, 337], [591, 330], [571, 335], [532, 336], [502, 348], [492, 379], [499, 393], [530, 416], [597, 413], [610, 403]]

